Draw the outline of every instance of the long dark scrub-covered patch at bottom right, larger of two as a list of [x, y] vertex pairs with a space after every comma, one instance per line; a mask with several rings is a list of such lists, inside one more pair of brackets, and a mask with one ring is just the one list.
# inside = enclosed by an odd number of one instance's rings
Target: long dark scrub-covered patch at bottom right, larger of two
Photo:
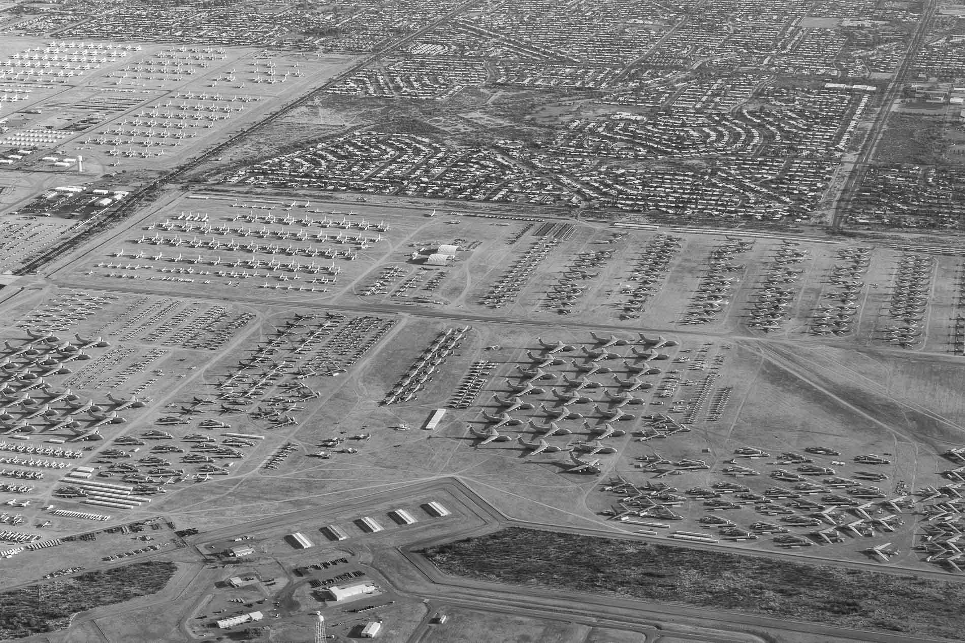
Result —
[[965, 583], [511, 527], [423, 549], [442, 572], [965, 640]]

